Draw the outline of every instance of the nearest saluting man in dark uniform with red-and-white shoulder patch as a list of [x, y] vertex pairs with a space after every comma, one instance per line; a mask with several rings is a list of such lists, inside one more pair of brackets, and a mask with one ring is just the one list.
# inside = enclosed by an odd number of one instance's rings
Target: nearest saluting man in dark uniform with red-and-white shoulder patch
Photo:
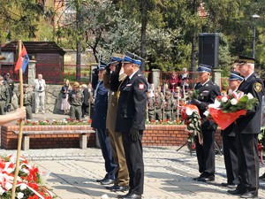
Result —
[[[144, 165], [141, 139], [145, 129], [148, 101], [148, 82], [140, 72], [142, 58], [126, 53], [123, 61], [124, 73], [128, 77], [117, 89], [116, 131], [123, 134], [126, 163], [129, 170], [129, 192], [118, 198], [141, 198], [144, 185]], [[118, 74], [113, 73], [117, 77]], [[118, 84], [116, 84], [118, 85]]]

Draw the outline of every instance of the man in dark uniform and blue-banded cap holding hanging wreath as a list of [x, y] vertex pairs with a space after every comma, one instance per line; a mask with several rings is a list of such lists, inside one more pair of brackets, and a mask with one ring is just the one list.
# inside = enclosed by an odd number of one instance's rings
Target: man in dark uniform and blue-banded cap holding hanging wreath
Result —
[[201, 115], [201, 132], [203, 143], [195, 139], [196, 154], [199, 164], [199, 172], [201, 175], [193, 180], [198, 181], [213, 181], [215, 180], [215, 134], [216, 123], [208, 120], [203, 112], [208, 109], [208, 103], [214, 103], [216, 96], [221, 96], [220, 88], [209, 80], [211, 73], [210, 65], [199, 65], [198, 67], [199, 82], [195, 85], [199, 92], [198, 99], [192, 99], [191, 103], [199, 108]]

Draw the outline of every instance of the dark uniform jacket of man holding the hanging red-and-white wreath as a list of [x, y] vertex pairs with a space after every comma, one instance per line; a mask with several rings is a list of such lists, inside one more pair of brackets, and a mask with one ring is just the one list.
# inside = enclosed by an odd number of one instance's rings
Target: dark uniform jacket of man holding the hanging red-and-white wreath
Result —
[[195, 85], [195, 89], [198, 90], [198, 100], [201, 101], [201, 106], [198, 107], [201, 115], [201, 129], [202, 130], [215, 130], [216, 123], [212, 120], [208, 120], [203, 112], [208, 109], [209, 103], [215, 103], [216, 96], [221, 96], [220, 88], [212, 81], [208, 80], [203, 86], [201, 83]]

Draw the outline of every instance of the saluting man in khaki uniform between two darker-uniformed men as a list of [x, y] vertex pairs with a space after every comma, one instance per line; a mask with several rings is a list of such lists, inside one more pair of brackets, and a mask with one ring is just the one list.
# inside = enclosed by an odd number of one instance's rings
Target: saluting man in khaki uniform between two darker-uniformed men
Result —
[[[109, 187], [111, 191], [127, 191], [129, 189], [129, 172], [126, 165], [125, 149], [123, 145], [122, 134], [115, 131], [116, 116], [117, 116], [117, 92], [110, 88], [110, 73], [115, 71], [116, 65], [122, 61], [123, 55], [113, 54], [110, 57], [110, 64], [106, 66], [106, 73], [103, 76], [105, 88], [109, 88], [108, 96], [108, 111], [106, 128], [110, 136], [110, 146], [114, 162], [117, 164], [117, 172], [115, 173], [115, 183]], [[120, 80], [125, 80], [127, 75], [122, 73]]]

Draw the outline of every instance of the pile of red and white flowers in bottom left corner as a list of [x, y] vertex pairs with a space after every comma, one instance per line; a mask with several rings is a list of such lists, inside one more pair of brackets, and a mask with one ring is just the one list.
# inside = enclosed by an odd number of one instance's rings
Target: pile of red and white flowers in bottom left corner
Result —
[[[16, 157], [0, 157], [0, 198], [11, 199], [11, 189], [16, 169]], [[52, 194], [47, 188], [40, 185], [40, 172], [38, 168], [29, 165], [25, 157], [19, 158], [19, 175], [16, 187], [18, 199], [51, 199]]]

